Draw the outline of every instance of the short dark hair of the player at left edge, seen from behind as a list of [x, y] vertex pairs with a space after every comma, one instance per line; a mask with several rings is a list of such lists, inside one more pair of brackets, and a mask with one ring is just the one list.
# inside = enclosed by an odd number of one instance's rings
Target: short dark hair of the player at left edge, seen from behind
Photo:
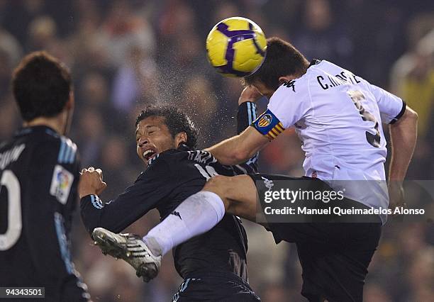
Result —
[[24, 121], [62, 112], [72, 89], [65, 65], [47, 52], [32, 52], [12, 74], [12, 91]]

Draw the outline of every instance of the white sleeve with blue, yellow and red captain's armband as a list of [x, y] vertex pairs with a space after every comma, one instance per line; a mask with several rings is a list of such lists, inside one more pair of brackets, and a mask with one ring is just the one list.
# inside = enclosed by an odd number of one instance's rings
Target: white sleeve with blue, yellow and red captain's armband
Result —
[[306, 88], [292, 80], [274, 92], [269, 99], [267, 111], [262, 113], [252, 126], [269, 140], [273, 140], [286, 128], [304, 118], [310, 107]]

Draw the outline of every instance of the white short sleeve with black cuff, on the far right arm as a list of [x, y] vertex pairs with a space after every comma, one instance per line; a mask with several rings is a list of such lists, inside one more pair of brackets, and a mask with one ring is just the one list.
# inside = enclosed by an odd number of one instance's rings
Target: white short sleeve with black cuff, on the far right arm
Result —
[[382, 122], [388, 124], [396, 123], [406, 111], [406, 102], [378, 86], [369, 85], [377, 101]]

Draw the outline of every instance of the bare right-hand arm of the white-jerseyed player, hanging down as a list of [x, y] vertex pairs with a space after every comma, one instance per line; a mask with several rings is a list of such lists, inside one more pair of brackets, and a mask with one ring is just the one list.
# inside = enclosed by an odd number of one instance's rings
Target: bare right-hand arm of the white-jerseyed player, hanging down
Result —
[[408, 106], [396, 123], [389, 125], [391, 162], [389, 167], [389, 195], [391, 207], [401, 203], [402, 181], [413, 157], [418, 137], [418, 114]]

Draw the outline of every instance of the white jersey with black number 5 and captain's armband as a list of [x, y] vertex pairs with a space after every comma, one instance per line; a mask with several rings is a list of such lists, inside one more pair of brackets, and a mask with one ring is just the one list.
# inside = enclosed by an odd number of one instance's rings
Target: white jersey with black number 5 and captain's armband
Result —
[[[272, 128], [262, 133], [274, 138], [295, 125], [306, 152], [306, 176], [318, 177], [335, 190], [347, 180], [364, 180], [351, 185], [353, 189], [347, 189], [345, 196], [369, 207], [387, 208], [382, 123], [394, 123], [401, 117], [405, 103], [342, 67], [325, 60], [315, 63], [302, 77], [274, 92], [262, 115], [266, 117], [262, 125]], [[378, 183], [374, 190], [372, 183]], [[383, 222], [385, 219], [383, 216]]]

